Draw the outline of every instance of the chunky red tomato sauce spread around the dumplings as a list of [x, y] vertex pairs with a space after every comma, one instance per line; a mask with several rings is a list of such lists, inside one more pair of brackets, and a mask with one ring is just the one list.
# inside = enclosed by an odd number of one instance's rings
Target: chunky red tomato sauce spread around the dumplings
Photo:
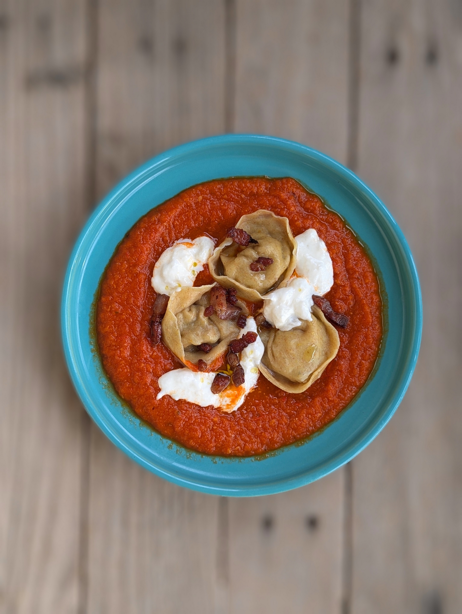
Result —
[[[288, 218], [294, 236], [315, 228], [331, 255], [333, 309], [350, 318], [336, 327], [340, 349], [307, 391], [289, 394], [263, 375], [231, 414], [168, 395], [158, 378], [182, 367], [163, 343], [149, 339], [153, 266], [182, 238], [225, 238], [244, 214], [267, 209]], [[194, 285], [211, 283], [207, 268]], [[382, 340], [382, 300], [374, 268], [345, 222], [295, 179], [220, 179], [188, 188], [142, 217], [118, 246], [101, 282], [96, 336], [102, 365], [117, 393], [154, 429], [187, 448], [221, 456], [274, 450], [331, 422], [368, 379]]]

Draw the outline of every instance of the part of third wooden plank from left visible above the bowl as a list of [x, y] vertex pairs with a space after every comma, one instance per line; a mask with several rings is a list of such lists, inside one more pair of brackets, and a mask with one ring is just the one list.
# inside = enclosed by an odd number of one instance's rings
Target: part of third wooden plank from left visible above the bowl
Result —
[[236, 132], [345, 161], [348, 1], [237, 0]]

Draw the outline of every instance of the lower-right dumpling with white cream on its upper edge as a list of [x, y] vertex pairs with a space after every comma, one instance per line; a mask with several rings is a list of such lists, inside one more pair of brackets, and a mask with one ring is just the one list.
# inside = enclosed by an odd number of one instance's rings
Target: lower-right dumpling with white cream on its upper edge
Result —
[[288, 331], [261, 330], [264, 344], [260, 371], [275, 386], [286, 392], [309, 388], [333, 360], [340, 346], [339, 333], [321, 309], [312, 308], [312, 321]]

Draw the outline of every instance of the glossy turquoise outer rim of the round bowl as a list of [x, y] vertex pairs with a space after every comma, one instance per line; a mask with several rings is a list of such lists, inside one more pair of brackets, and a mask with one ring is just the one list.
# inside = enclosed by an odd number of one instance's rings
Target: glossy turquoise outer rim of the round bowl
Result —
[[[85, 243], [85, 239], [87, 238], [90, 231], [93, 229], [94, 225], [98, 224], [98, 222], [103, 219], [104, 212], [106, 212], [106, 210], [110, 208], [111, 204], [120, 194], [120, 192], [125, 190], [133, 182], [141, 179], [142, 175], [150, 171], [154, 166], [158, 166], [161, 163], [165, 163], [172, 158], [192, 153], [194, 152], [194, 150], [203, 149], [204, 147], [207, 148], [210, 146], [217, 145], [223, 146], [227, 144], [235, 145], [238, 143], [268, 144], [270, 146], [272, 145], [277, 147], [283, 147], [283, 149], [290, 150], [298, 154], [305, 154], [307, 155], [307, 157], [312, 159], [314, 158], [314, 160], [323, 163], [323, 165], [328, 166], [331, 171], [340, 174], [348, 182], [352, 182], [356, 188], [359, 188], [361, 192], [365, 193], [366, 196], [368, 196], [369, 200], [371, 200], [374, 206], [379, 209], [380, 214], [385, 217], [391, 229], [395, 233], [396, 239], [398, 240], [398, 243], [402, 249], [402, 255], [404, 255], [404, 258], [406, 260], [406, 264], [410, 274], [410, 280], [412, 282], [412, 294], [414, 296], [415, 301], [414, 330], [412, 331], [412, 344], [410, 344], [409, 351], [407, 352], [406, 368], [403, 370], [401, 378], [399, 379], [399, 384], [396, 387], [395, 394], [393, 395], [393, 400], [388, 405], [387, 410], [382, 414], [382, 418], [374, 422], [374, 424], [372, 424], [372, 427], [366, 433], [364, 433], [363, 437], [361, 437], [360, 440], [355, 440], [355, 443], [342, 450], [342, 453], [337, 454], [324, 465], [318, 466], [315, 470], [307, 470], [307, 472], [303, 473], [302, 475], [298, 475], [293, 478], [282, 478], [281, 480], [277, 481], [268, 481], [268, 483], [264, 484], [263, 486], [255, 486], [255, 484], [252, 484], [251, 486], [242, 485], [237, 488], [234, 488], [228, 485], [226, 486], [226, 488], [218, 488], [217, 486], [213, 486], [209, 483], [200, 483], [199, 481], [188, 480], [184, 476], [182, 477], [175, 473], [174, 469], [172, 469], [172, 472], [169, 473], [163, 470], [163, 468], [161, 467], [156, 467], [155, 465], [144, 459], [141, 454], [137, 453], [134, 449], [126, 445], [125, 442], [121, 441], [120, 438], [118, 438], [117, 435], [109, 428], [106, 422], [101, 419], [101, 416], [99, 416], [99, 414], [94, 411], [93, 402], [90, 399], [87, 390], [78, 375], [75, 358], [73, 356], [74, 351], [71, 347], [71, 331], [69, 327], [69, 297], [71, 294], [72, 276], [75, 268], [77, 268], [78, 265], [77, 256], [80, 253], [82, 244]], [[72, 249], [71, 256], [69, 257], [69, 263], [67, 265], [66, 275], [63, 283], [63, 293], [61, 300], [61, 338], [64, 348], [64, 356], [67, 364], [67, 370], [71, 375], [72, 383], [74, 384], [75, 390], [77, 391], [77, 394], [79, 395], [79, 398], [83, 403], [85, 410], [91, 416], [93, 421], [98, 424], [102, 432], [104, 432], [104, 434], [112, 441], [112, 443], [114, 443], [119, 449], [121, 449], [125, 454], [127, 454], [133, 461], [142, 465], [142, 467], [146, 468], [150, 472], [153, 472], [156, 475], [166, 479], [167, 481], [178, 484], [180, 486], [186, 486], [187, 488], [196, 491], [207, 492], [209, 494], [248, 497], [288, 491], [291, 489], [299, 488], [299, 486], [304, 486], [312, 481], [318, 480], [321, 477], [328, 475], [328, 473], [333, 472], [337, 468], [342, 467], [342, 465], [346, 464], [347, 462], [351, 461], [353, 457], [359, 454], [364, 448], [366, 448], [366, 446], [369, 445], [369, 443], [371, 443], [372, 440], [374, 440], [375, 437], [377, 437], [380, 431], [387, 425], [388, 421], [390, 421], [391, 416], [393, 416], [399, 404], [401, 403], [404, 394], [406, 394], [410, 379], [412, 378], [412, 375], [414, 373], [415, 365], [417, 363], [418, 358], [418, 352], [420, 349], [420, 343], [422, 340], [422, 311], [422, 291], [420, 289], [420, 283], [418, 281], [417, 268], [414, 263], [414, 258], [412, 257], [412, 252], [410, 251], [409, 245], [407, 244], [406, 238], [404, 237], [404, 233], [402, 233], [401, 228], [399, 228], [398, 223], [396, 223], [396, 220], [393, 218], [393, 216], [391, 216], [385, 204], [383, 204], [380, 198], [375, 195], [374, 192], [372, 192], [371, 188], [369, 188], [368, 185], [364, 184], [360, 177], [356, 176], [353, 171], [346, 168], [344, 165], [329, 157], [325, 153], [321, 153], [318, 150], [312, 149], [312, 147], [303, 145], [295, 141], [289, 141], [287, 139], [261, 134], [221, 134], [217, 136], [210, 136], [207, 138], [198, 139], [195, 141], [190, 141], [179, 146], [172, 147], [165, 152], [159, 153], [158, 155], [153, 158], [150, 158], [150, 160], [147, 160], [145, 163], [134, 169], [134, 171], [123, 177], [123, 179], [121, 179], [121, 181], [118, 182], [117, 185], [115, 185], [115, 187], [112, 188], [112, 190], [110, 190], [110, 192], [106, 196], [104, 196], [104, 198], [102, 198], [98, 206], [96, 206], [94, 211], [91, 213], [90, 217], [87, 220], [87, 223], [85, 223], [85, 226], [80, 232], [80, 235], [75, 242], [74, 248]], [[366, 385], [367, 384], [365, 384], [364, 386]], [[359, 394], [361, 394], [361, 391]], [[358, 395], [353, 398], [352, 402], [348, 405], [348, 408], [350, 408], [353, 403], [355, 403], [356, 398], [358, 398]], [[341, 414], [342, 412], [339, 414], [339, 416], [341, 416]], [[325, 428], [328, 428], [329, 424], [326, 425]], [[321, 431], [322, 430], [323, 429], [321, 429]], [[317, 433], [314, 433], [312, 437], [315, 437]], [[160, 435], [160, 433], [158, 434]], [[163, 435], [160, 435], [160, 437], [163, 437]], [[170, 441], [166, 437], [163, 438], [166, 441]], [[178, 445], [177, 442], [174, 443], [175, 445]], [[297, 442], [291, 444], [290, 446], [294, 445], [297, 445]], [[193, 454], [200, 453], [193, 452]]]

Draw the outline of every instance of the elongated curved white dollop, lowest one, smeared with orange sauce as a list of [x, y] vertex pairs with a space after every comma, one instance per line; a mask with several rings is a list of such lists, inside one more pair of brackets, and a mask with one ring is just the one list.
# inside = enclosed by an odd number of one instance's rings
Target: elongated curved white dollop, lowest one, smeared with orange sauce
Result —
[[[253, 317], [247, 318], [247, 324], [239, 333], [239, 338], [249, 330], [256, 333], [256, 324]], [[255, 387], [258, 375], [260, 375], [258, 365], [260, 365], [263, 352], [264, 346], [259, 336], [257, 336], [255, 343], [251, 343], [241, 352], [241, 365], [245, 376], [242, 386], [237, 388], [230, 386], [220, 394], [213, 394], [210, 387], [215, 375], [217, 375], [216, 373], [201, 373], [200, 371], [190, 371], [187, 368], [175, 369], [164, 373], [158, 379], [160, 392], [157, 399], [167, 394], [175, 401], [183, 398], [201, 407], [213, 405], [221, 408], [222, 411], [231, 413], [244, 403], [247, 394]]]

